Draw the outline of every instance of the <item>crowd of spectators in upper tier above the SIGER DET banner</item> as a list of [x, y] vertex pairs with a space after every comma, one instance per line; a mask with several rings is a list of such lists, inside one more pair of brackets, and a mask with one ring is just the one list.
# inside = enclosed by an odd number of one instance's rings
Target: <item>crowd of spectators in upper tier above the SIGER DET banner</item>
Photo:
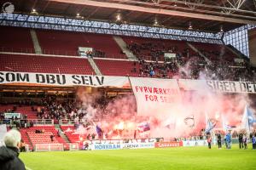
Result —
[[[138, 77], [203, 78], [245, 82], [256, 80], [256, 71], [249, 61], [241, 59], [241, 62], [236, 62], [236, 56], [225, 51], [228, 50], [227, 48], [221, 48], [221, 51], [199, 48], [204, 56], [193, 53], [189, 48], [179, 51], [177, 46], [166, 46], [164, 43], [133, 42], [128, 45], [128, 48], [139, 59], [138, 63], [134, 62], [134, 68], [131, 70], [131, 72], [137, 72]], [[165, 60], [165, 53], [174, 53], [176, 58]], [[139, 65], [139, 71], [137, 71], [137, 65]]]

